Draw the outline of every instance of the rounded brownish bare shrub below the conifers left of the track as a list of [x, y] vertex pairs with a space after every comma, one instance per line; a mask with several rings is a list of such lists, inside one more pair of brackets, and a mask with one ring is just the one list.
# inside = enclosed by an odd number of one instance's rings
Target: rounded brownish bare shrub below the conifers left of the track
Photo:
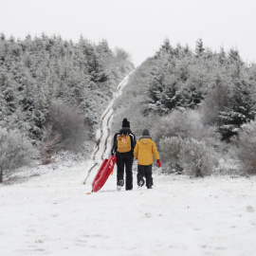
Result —
[[[51, 127], [52, 143], [56, 150], [68, 150], [79, 152], [88, 139], [88, 128], [84, 123], [82, 115], [78, 114], [78, 107], [69, 107], [63, 103], [56, 103], [52, 106], [47, 125]], [[47, 139], [46, 139], [47, 140]], [[56, 140], [59, 142], [56, 143]], [[58, 144], [58, 146], [57, 146]]]

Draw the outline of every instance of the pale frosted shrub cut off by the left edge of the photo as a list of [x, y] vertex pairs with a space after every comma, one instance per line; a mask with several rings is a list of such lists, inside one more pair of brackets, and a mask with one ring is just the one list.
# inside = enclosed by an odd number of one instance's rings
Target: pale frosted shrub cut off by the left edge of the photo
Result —
[[27, 165], [38, 155], [27, 137], [20, 131], [0, 129], [0, 183], [3, 173], [11, 172], [23, 165]]

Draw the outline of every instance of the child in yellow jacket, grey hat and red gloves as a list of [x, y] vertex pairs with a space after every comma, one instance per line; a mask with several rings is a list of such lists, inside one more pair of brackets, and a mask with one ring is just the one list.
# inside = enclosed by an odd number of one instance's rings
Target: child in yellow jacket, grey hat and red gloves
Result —
[[150, 132], [148, 129], [144, 129], [142, 132], [142, 137], [139, 137], [134, 150], [134, 156], [137, 159], [137, 185], [142, 187], [145, 183], [144, 178], [146, 178], [146, 186], [148, 189], [152, 189], [153, 177], [152, 177], [152, 164], [153, 155], [155, 156], [156, 166], [160, 168], [160, 159], [155, 146], [155, 142], [152, 137], [150, 137]]

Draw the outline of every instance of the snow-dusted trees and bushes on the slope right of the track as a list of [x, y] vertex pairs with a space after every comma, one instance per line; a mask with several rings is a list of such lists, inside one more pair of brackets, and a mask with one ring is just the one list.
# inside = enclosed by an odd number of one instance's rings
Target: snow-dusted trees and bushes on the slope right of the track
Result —
[[220, 165], [224, 157], [229, 167], [235, 162], [240, 170], [256, 171], [256, 155], [242, 154], [242, 140], [252, 136], [245, 131], [255, 125], [256, 65], [243, 62], [237, 49], [212, 51], [201, 39], [192, 49], [166, 39], [137, 68], [116, 108], [122, 104], [129, 107], [121, 107], [113, 130], [121, 116], [131, 119], [137, 135], [150, 128], [166, 170], [220, 172], [229, 169]]

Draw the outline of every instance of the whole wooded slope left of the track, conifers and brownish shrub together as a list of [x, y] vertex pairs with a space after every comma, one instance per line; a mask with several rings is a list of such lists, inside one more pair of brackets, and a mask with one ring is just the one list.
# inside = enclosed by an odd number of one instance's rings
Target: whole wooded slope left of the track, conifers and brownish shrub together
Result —
[[112, 92], [132, 69], [129, 53], [112, 50], [104, 39], [75, 43], [46, 34], [24, 40], [0, 34], [1, 139], [18, 131], [45, 156], [84, 150]]

